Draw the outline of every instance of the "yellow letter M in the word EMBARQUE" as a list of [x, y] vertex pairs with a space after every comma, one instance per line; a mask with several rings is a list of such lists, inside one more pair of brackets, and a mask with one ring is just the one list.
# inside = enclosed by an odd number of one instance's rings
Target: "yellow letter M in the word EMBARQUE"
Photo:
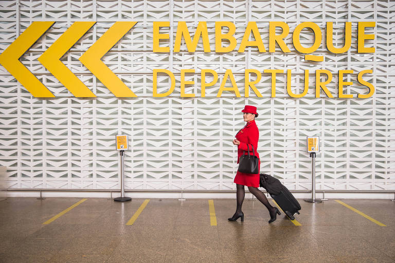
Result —
[[195, 35], [193, 36], [193, 41], [188, 31], [187, 23], [185, 21], [178, 22], [177, 33], [175, 35], [174, 42], [174, 52], [179, 52], [181, 47], [181, 39], [184, 36], [185, 44], [187, 46], [188, 52], [195, 52], [197, 43], [199, 42], [200, 36], [202, 36], [203, 49], [204, 52], [211, 52], [210, 42], [208, 40], [207, 23], [199, 22], [196, 27]]

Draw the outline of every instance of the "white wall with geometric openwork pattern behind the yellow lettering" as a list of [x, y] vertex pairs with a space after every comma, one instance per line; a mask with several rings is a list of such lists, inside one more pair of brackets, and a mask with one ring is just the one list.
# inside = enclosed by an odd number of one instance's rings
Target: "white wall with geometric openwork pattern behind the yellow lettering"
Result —
[[[306, 136], [321, 137], [317, 156], [317, 189], [395, 189], [395, 2], [393, 1], [2, 1], [0, 2], [0, 50], [3, 52], [34, 21], [56, 21], [20, 59], [56, 96], [37, 99], [0, 66], [0, 165], [8, 167], [9, 187], [14, 189], [119, 189], [119, 155], [115, 135], [129, 135], [125, 154], [126, 189], [228, 190], [236, 173], [236, 147], [231, 140], [243, 126], [241, 109], [256, 105], [260, 114], [259, 153], [261, 172], [280, 178], [289, 189], [311, 189], [311, 159]], [[62, 58], [62, 62], [91, 89], [96, 99], [78, 99], [47, 71], [38, 57], [75, 21], [97, 21]], [[78, 58], [116, 21], [137, 21], [104, 57], [104, 63], [136, 93], [138, 98], [116, 98]], [[196, 52], [153, 53], [154, 21], [186, 21], [191, 34], [199, 21], [207, 21], [211, 52], [202, 42]], [[257, 21], [266, 49], [268, 22], [290, 26], [285, 42], [291, 53], [259, 53], [247, 48], [238, 53], [215, 53], [214, 22], [236, 25], [240, 44], [245, 26]], [[314, 52], [324, 62], [304, 61], [292, 46], [292, 32], [301, 22], [314, 22], [323, 32], [334, 22], [334, 43], [343, 45], [344, 22], [352, 22], [352, 46], [333, 54], [321, 44]], [[375, 40], [367, 45], [376, 52], [356, 52], [359, 21], [375, 21]], [[164, 30], [165, 33], [166, 30]], [[304, 31], [303, 31], [304, 32]], [[313, 36], [302, 34], [308, 45]], [[184, 43], [184, 42], [183, 42]], [[172, 50], [172, 48], [171, 48]], [[166, 68], [177, 84], [170, 97], [152, 97], [152, 71]], [[219, 73], [217, 85], [200, 97], [200, 71]], [[244, 70], [292, 69], [295, 93], [303, 90], [303, 72], [309, 69], [310, 89], [301, 99], [286, 93], [286, 75], [277, 76], [277, 96], [271, 98], [271, 79], [262, 73], [257, 87], [263, 98], [250, 91], [244, 96]], [[196, 98], [180, 98], [179, 70], [194, 69], [187, 92]], [[224, 92], [217, 98], [226, 69], [235, 75], [242, 98]], [[369, 99], [315, 99], [316, 69], [333, 73], [329, 90], [337, 95], [337, 71], [373, 69], [367, 79], [375, 86]], [[366, 77], [365, 77], [366, 78]], [[159, 78], [168, 86], [167, 78]], [[356, 81], [351, 74], [349, 81]], [[161, 89], [163, 90], [163, 89]], [[366, 93], [363, 86], [347, 86], [347, 93]]]

